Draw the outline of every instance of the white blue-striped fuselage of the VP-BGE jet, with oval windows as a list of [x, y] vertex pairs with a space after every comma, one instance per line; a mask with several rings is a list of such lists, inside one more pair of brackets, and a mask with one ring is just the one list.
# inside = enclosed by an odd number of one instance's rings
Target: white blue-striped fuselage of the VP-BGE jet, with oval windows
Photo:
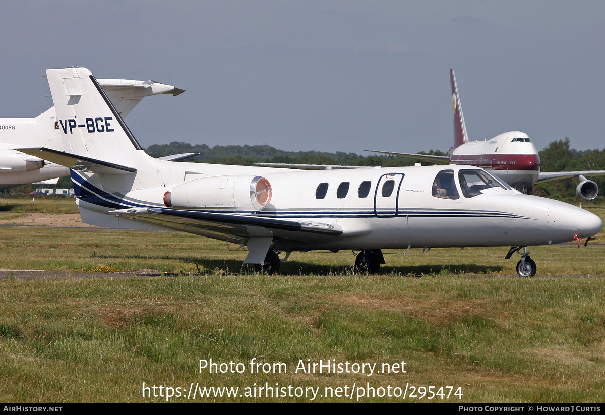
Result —
[[[186, 165], [190, 175], [192, 168], [199, 166], [200, 177], [237, 177], [227, 176], [233, 166], [191, 163], [171, 163], [172, 171], [164, 171], [162, 177], [182, 177], [185, 171], [180, 171], [178, 165]], [[189, 206], [187, 210], [320, 223], [342, 230], [341, 235], [334, 237], [287, 231], [275, 235], [261, 227], [251, 231], [258, 237], [273, 237], [273, 246], [280, 250], [529, 246], [589, 237], [601, 229], [601, 220], [596, 215], [571, 204], [521, 194], [489, 175], [489, 186], [479, 181], [471, 183], [476, 172], [482, 170], [470, 166], [335, 171], [240, 167], [238, 174], [261, 175], [269, 181], [272, 197], [267, 206], [260, 210], [243, 209], [237, 206], [236, 200], [231, 206]], [[81, 183], [76, 186], [76, 194], [80, 195], [78, 204], [83, 220], [99, 226], [126, 228], [141, 224], [110, 215], [98, 215], [91, 220], [86, 211], [166, 209], [166, 193], [182, 183], [123, 193], [115, 189], [111, 192], [114, 197], [103, 198], [103, 192], [97, 191], [94, 180], [84, 181], [79, 174], [75, 183], [78, 180]], [[142, 180], [151, 179], [146, 177]], [[126, 184], [128, 182], [131, 183], [132, 179], [126, 180]], [[438, 182], [439, 185], [436, 184]], [[483, 189], [471, 192], [473, 185]], [[441, 195], [437, 194], [437, 186], [442, 186], [439, 188]], [[209, 194], [208, 189], [205, 192]], [[243, 195], [244, 199], [246, 197], [249, 195]], [[109, 223], [110, 220], [114, 222]], [[158, 225], [165, 229], [241, 242], [241, 237], [228, 232], [221, 235], [218, 230], [213, 233], [206, 228], [185, 228], [182, 223], [163, 222]]]

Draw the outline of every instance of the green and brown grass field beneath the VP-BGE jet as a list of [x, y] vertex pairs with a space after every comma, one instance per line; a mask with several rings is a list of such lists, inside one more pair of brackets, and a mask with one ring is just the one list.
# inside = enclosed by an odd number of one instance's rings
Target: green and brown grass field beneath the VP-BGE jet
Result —
[[[2, 214], [22, 213], [8, 204]], [[267, 276], [241, 265], [245, 253], [192, 235], [0, 229], [0, 267], [60, 274], [0, 272], [2, 402], [166, 402], [167, 392], [169, 402], [356, 402], [362, 392], [359, 402], [605, 402], [600, 240], [531, 247], [531, 279], [516, 276], [505, 247], [392, 251], [375, 276], [353, 272], [350, 252], [293, 253]], [[149, 270], [160, 276], [137, 276]], [[227, 373], [200, 372], [200, 359]], [[252, 359], [267, 373], [251, 373]], [[320, 359], [376, 366], [370, 376], [300, 370]], [[285, 389], [266, 397], [266, 384]], [[177, 396], [191, 385], [239, 390]]]

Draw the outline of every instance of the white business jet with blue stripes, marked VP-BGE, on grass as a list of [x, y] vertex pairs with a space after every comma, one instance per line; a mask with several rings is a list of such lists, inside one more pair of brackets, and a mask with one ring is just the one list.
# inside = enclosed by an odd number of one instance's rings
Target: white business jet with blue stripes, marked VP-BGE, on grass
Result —
[[590, 238], [601, 219], [524, 195], [469, 166], [301, 171], [150, 157], [86, 68], [47, 70], [68, 152], [22, 152], [71, 169], [82, 221], [179, 230], [247, 247], [244, 263], [277, 272], [279, 251], [359, 252], [375, 272], [382, 249], [506, 246], [520, 276], [535, 275], [530, 245]]

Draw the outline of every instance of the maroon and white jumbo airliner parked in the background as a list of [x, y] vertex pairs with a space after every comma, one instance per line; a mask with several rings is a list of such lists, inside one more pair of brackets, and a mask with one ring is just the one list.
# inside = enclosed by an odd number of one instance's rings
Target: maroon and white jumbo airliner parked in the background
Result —
[[583, 200], [593, 200], [597, 197], [597, 183], [587, 180], [584, 175], [605, 175], [605, 171], [540, 172], [540, 155], [525, 132], [508, 131], [490, 140], [469, 141], [454, 68], [450, 68], [450, 84], [454, 115], [454, 146], [448, 151], [449, 156], [372, 151], [406, 155], [440, 164], [454, 163], [482, 167], [520, 191], [528, 189], [531, 192], [531, 186], [540, 181], [578, 177], [580, 180], [576, 188], [578, 197]]

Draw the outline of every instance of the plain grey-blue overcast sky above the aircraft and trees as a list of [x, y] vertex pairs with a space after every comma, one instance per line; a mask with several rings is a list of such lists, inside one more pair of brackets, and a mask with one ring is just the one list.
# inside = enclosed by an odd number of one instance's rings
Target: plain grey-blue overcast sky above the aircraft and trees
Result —
[[447, 151], [449, 68], [472, 140], [605, 140], [603, 1], [8, 1], [0, 117], [52, 105], [47, 68], [186, 92], [126, 118], [141, 145]]

